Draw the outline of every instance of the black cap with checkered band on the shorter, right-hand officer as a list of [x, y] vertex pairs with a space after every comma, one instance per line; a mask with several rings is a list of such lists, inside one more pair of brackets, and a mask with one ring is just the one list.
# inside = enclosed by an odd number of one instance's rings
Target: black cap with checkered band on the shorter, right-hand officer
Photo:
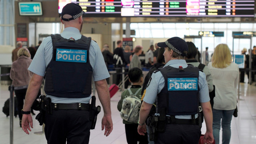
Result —
[[184, 54], [184, 52], [188, 52], [188, 45], [182, 38], [172, 37], [165, 42], [158, 42], [157, 46], [163, 48], [168, 47], [181, 56], [187, 56], [187, 54]]

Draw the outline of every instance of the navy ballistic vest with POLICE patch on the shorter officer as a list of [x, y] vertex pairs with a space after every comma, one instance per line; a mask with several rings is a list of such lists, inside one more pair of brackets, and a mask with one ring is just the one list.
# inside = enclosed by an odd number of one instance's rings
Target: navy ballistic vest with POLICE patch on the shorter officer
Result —
[[169, 116], [194, 115], [198, 109], [198, 77], [197, 67], [174, 68], [166, 66], [160, 69], [165, 85], [156, 100], [156, 112]]

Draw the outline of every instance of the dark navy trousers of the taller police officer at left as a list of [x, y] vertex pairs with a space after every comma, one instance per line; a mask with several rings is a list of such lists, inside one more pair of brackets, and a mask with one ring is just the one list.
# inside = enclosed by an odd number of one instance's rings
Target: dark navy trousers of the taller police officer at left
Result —
[[44, 132], [48, 144], [88, 144], [89, 112], [52, 110], [52, 115], [46, 114]]

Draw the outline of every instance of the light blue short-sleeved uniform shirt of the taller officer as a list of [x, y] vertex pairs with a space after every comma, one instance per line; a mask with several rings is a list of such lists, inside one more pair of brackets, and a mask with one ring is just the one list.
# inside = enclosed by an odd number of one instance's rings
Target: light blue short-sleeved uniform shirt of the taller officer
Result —
[[[79, 30], [74, 27], [65, 28], [64, 31], [60, 34], [63, 38], [69, 39], [74, 38], [78, 40], [82, 37]], [[100, 51], [100, 48], [96, 42], [93, 40], [90, 44], [89, 50], [89, 59], [90, 64], [92, 66], [92, 76], [94, 81], [99, 81], [110, 77], [108, 73], [108, 69], [106, 68], [106, 64], [104, 62], [104, 58]], [[34, 56], [28, 70], [38, 74], [40, 76], [44, 76], [46, 66], [52, 60], [52, 38], [50, 36], [46, 37], [38, 50], [36, 51], [36, 55]], [[92, 96], [88, 98], [58, 98], [51, 95], [46, 95], [46, 97], [50, 97], [53, 103], [89, 103]]]

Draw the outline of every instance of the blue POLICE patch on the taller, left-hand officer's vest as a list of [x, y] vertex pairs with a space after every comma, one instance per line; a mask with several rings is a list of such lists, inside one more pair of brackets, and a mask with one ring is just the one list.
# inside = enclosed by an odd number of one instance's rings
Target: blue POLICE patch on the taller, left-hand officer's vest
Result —
[[86, 62], [87, 50], [70, 50], [57, 48], [56, 61], [62, 62]]

